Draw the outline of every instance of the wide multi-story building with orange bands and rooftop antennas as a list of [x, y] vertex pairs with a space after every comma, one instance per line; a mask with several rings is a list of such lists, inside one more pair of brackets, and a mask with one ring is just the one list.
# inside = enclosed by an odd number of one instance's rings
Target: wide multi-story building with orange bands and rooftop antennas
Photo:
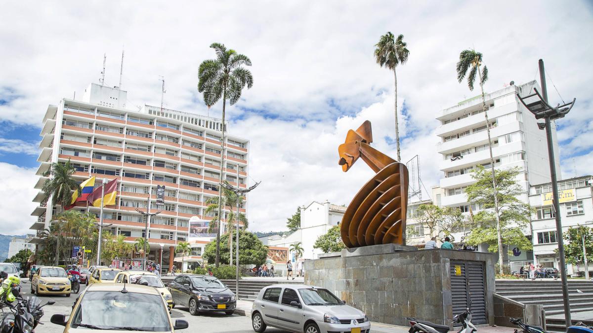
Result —
[[[227, 133], [221, 142], [221, 120], [169, 109], [144, 105], [141, 110], [127, 110], [126, 91], [91, 84], [82, 101], [63, 98], [59, 105], [49, 105], [43, 117], [40, 135], [42, 152], [37, 161], [40, 176], [35, 188], [41, 190], [43, 177], [52, 162], [74, 164], [76, 180], [96, 176], [119, 180], [117, 204], [104, 208], [104, 223], [114, 235], [125, 235], [133, 242], [144, 237], [145, 218], [135, 209], [146, 209], [151, 194], [151, 218], [148, 240], [149, 259], [172, 267], [174, 248], [189, 238], [189, 219], [206, 215], [206, 201], [218, 196], [221, 154], [225, 153], [223, 179], [232, 185], [246, 187], [248, 140]], [[238, 171], [238, 180], [237, 180]], [[165, 203], [155, 202], [157, 185], [165, 185]], [[51, 198], [49, 198], [51, 200]], [[32, 215], [39, 216], [31, 229], [49, 227], [59, 207], [48, 207], [46, 194], [39, 191], [39, 203]], [[241, 212], [246, 212], [246, 203]], [[98, 207], [81, 205], [75, 209]], [[228, 207], [225, 209], [228, 212]], [[221, 231], [225, 229], [222, 219]], [[39, 236], [39, 233], [38, 233]], [[39, 241], [39, 238], [37, 238]]]

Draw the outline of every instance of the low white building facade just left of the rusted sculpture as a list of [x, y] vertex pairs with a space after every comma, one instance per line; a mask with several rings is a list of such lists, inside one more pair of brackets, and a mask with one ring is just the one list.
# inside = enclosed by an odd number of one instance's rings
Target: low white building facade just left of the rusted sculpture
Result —
[[[323, 253], [320, 249], [313, 248], [315, 241], [321, 235], [327, 233], [331, 227], [342, 222], [346, 212], [345, 206], [337, 206], [325, 201], [320, 203], [313, 201], [308, 206], [301, 207], [301, 229], [290, 235], [275, 235], [260, 238], [264, 245], [280, 246], [290, 248], [292, 244], [301, 242], [303, 248], [303, 259], [316, 259], [317, 255]], [[292, 258], [292, 253], [289, 254]]]

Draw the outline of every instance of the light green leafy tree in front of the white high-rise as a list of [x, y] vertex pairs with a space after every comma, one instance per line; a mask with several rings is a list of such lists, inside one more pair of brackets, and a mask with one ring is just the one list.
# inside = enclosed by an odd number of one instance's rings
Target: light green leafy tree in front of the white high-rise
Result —
[[[496, 170], [497, 191], [495, 192], [490, 170], [479, 166], [472, 173], [471, 177], [476, 180], [476, 183], [466, 188], [467, 200], [470, 204], [482, 207], [483, 210], [470, 215], [472, 229], [466, 238], [467, 244], [485, 243], [489, 245], [488, 251], [498, 251], [501, 254], [502, 241], [498, 237], [500, 230], [500, 235], [505, 239], [506, 244], [516, 245], [524, 250], [533, 248], [531, 241], [523, 233], [530, 223], [529, 217], [533, 209], [529, 204], [518, 199], [523, 194], [521, 186], [517, 184], [518, 174], [519, 168], [516, 167]], [[499, 209], [495, 209], [495, 204], [498, 204]], [[499, 260], [502, 263], [500, 257]]]

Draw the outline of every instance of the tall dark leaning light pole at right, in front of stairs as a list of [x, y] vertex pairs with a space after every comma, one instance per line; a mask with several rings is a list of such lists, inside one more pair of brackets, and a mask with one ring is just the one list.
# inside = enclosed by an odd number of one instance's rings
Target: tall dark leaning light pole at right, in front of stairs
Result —
[[[552, 182], [552, 196], [554, 215], [556, 216], [556, 240], [558, 241], [558, 255], [560, 257], [560, 276], [562, 277], [562, 298], [564, 302], [564, 317], [566, 328], [571, 325], [570, 321], [570, 300], [568, 294], [568, 280], [566, 278], [566, 258], [564, 254], [564, 241], [562, 238], [562, 217], [560, 216], [560, 202], [558, 198], [558, 184], [556, 180], [556, 159], [554, 158], [554, 145], [552, 142], [552, 126], [551, 121], [563, 118], [575, 104], [575, 99], [570, 103], [563, 105], [556, 105], [551, 107], [548, 104], [548, 92], [546, 88], [546, 71], [544, 71], [544, 60], [538, 63], [540, 68], [540, 84], [541, 94], [534, 88], [535, 94], [527, 95], [525, 97], [519, 96], [519, 100], [527, 110], [535, 115], [535, 119], [544, 119], [545, 123], [537, 123], [540, 130], [546, 130], [546, 137], [548, 143], [548, 158], [550, 162], [550, 176]], [[532, 103], [526, 103], [525, 100], [531, 97], [537, 97]]]

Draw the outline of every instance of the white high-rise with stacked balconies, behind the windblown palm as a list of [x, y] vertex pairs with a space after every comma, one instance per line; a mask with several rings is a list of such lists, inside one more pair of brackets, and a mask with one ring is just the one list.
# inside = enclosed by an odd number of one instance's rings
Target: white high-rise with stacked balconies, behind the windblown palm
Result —
[[[524, 193], [519, 199], [526, 203], [529, 202], [530, 184], [550, 181], [546, 132], [538, 129], [535, 117], [517, 97], [517, 94], [530, 94], [534, 87], [539, 86], [537, 82], [531, 81], [486, 94], [495, 167], [521, 169], [517, 177]], [[470, 207], [464, 190], [474, 182], [470, 171], [477, 165], [490, 167], [482, 96], [477, 95], [446, 108], [436, 119], [441, 121], [441, 125], [436, 129], [436, 135], [439, 137], [437, 151], [442, 156], [439, 165], [442, 172], [439, 184], [442, 189], [440, 204], [459, 207], [461, 212], [469, 212]], [[558, 161], [556, 129], [553, 127], [552, 131], [554, 154]], [[560, 175], [560, 163], [556, 163], [557, 173]], [[476, 212], [480, 207], [471, 209]], [[460, 239], [466, 232], [461, 231], [455, 238]], [[525, 230], [525, 234], [531, 235], [531, 230]]]

